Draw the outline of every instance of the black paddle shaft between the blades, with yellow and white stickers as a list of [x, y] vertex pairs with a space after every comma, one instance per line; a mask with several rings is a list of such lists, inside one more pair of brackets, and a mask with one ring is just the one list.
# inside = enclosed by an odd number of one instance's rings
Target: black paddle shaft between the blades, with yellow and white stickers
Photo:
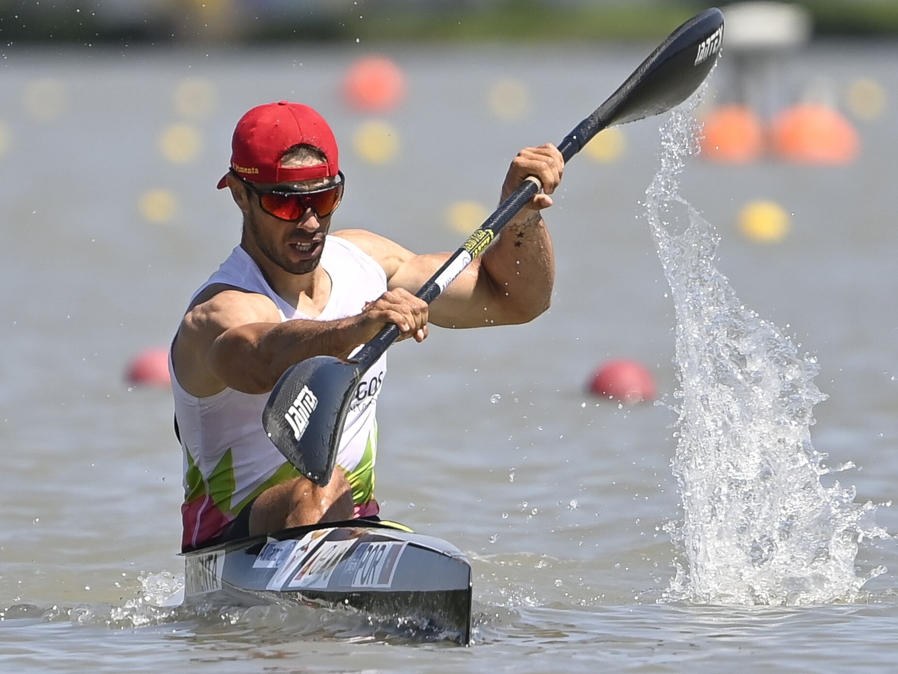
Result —
[[[571, 131], [558, 146], [561, 156], [564, 157], [565, 164], [595, 134], [607, 125], [607, 121], [603, 123], [603, 120], [597, 119], [595, 115], [591, 115], [580, 122], [577, 125], [577, 129]], [[480, 253], [483, 253], [489, 247], [489, 244], [493, 243], [496, 235], [524, 208], [528, 201], [533, 199], [541, 188], [542, 185], [538, 178], [528, 177], [505, 201], [499, 204], [499, 207], [493, 211], [493, 214], [482, 225], [474, 230], [471, 236], [468, 237], [468, 240], [445, 261], [443, 266], [436, 271], [436, 274], [421, 286], [418, 292], [415, 293], [415, 297], [423, 299], [428, 305], [439, 297], [445, 288], [471, 264], [471, 261]], [[358, 351], [353, 360], [356, 360], [360, 368], [365, 370], [383, 356], [383, 352], [389, 349], [393, 341], [396, 341], [399, 336], [400, 330], [396, 324], [384, 325], [381, 331], [374, 335], [374, 338]]]

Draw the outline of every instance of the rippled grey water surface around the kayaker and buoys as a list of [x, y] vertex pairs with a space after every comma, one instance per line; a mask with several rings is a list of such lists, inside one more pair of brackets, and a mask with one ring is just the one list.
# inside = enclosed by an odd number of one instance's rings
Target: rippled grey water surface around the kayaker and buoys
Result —
[[[339, 98], [353, 49], [7, 52], [0, 120], [0, 670], [512, 671], [890, 670], [898, 623], [898, 543], [863, 545], [885, 563], [863, 600], [815, 607], [658, 604], [676, 550], [669, 462], [673, 412], [620, 408], [585, 394], [609, 357], [639, 359], [674, 390], [674, 309], [638, 201], [656, 172], [659, 120], [626, 128], [616, 164], [569, 167], [547, 214], [554, 304], [533, 324], [435, 329], [391, 350], [381, 405], [377, 493], [384, 513], [444, 537], [474, 568], [476, 644], [414, 645], [364, 619], [265, 611], [189, 615], [149, 606], [177, 586], [180, 451], [170, 394], [129, 390], [137, 351], [163, 346], [194, 288], [236, 243], [225, 192], [234, 122], [259, 102], [311, 102], [342, 139], [348, 192], [335, 228], [365, 227], [417, 251], [454, 249], [458, 200], [492, 204], [524, 145], [558, 142], [636, 67], [651, 45], [619, 49], [397, 49], [409, 93], [387, 115], [401, 152], [364, 164], [351, 137], [365, 116]], [[858, 500], [898, 495], [898, 264], [894, 156], [898, 49], [817, 46], [786, 84], [830, 78], [840, 93], [876, 77], [893, 108], [858, 122], [862, 153], [842, 168], [694, 160], [683, 195], [718, 226], [719, 267], [747, 306], [820, 359], [814, 447]], [[726, 58], [715, 84], [726, 83]], [[42, 77], [64, 83], [65, 114], [22, 105]], [[496, 120], [486, 93], [527, 82], [523, 119]], [[216, 85], [192, 164], [170, 164], [156, 137], [180, 121], [185, 78]], [[150, 188], [173, 191], [168, 225], [139, 217]], [[744, 240], [735, 215], [753, 199], [794, 213], [780, 244]], [[496, 402], [491, 402], [495, 400]], [[877, 522], [898, 530], [896, 508]], [[148, 598], [148, 599], [145, 599]], [[23, 606], [24, 605], [24, 606]], [[311, 626], [310, 626], [311, 625]]]

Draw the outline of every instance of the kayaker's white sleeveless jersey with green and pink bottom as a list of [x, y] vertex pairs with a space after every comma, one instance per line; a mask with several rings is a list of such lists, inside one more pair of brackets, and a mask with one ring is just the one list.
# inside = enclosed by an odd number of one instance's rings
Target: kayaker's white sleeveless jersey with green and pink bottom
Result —
[[[387, 289], [383, 268], [355, 244], [339, 236], [327, 237], [321, 253], [321, 268], [330, 275], [330, 299], [321, 315], [314, 318], [278, 297], [240, 246], [233, 249], [193, 297], [210, 285], [225, 284], [269, 297], [277, 306], [281, 321], [294, 318], [330, 321], [359, 314], [365, 302], [380, 297]], [[182, 547], [191, 549], [220, 533], [261, 492], [298, 473], [286, 463], [262, 429], [262, 409], [268, 394], [250, 395], [225, 388], [216, 395], [198, 398], [179, 386], [171, 354], [169, 368], [184, 453]], [[337, 454], [337, 465], [346, 471], [352, 485], [357, 516], [378, 511], [374, 501], [377, 457], [374, 412], [385, 374], [384, 354], [357, 387]]]

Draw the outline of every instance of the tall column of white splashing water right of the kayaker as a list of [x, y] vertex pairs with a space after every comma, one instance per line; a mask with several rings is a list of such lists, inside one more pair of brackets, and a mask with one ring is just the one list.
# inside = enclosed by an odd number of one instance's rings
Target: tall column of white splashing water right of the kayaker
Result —
[[[680, 551], [666, 599], [703, 604], [800, 605], [851, 601], [885, 572], [858, 575], [876, 506], [856, 503], [853, 486], [821, 476], [810, 427], [816, 359], [788, 334], [746, 308], [715, 266], [719, 235], [680, 196], [679, 175], [698, 152], [691, 111], [700, 95], [661, 129], [661, 168], [647, 189], [646, 216], [670, 283], [676, 313], [674, 393], [677, 448], [672, 462], [682, 522], [667, 530]], [[829, 480], [828, 480], [829, 481]]]

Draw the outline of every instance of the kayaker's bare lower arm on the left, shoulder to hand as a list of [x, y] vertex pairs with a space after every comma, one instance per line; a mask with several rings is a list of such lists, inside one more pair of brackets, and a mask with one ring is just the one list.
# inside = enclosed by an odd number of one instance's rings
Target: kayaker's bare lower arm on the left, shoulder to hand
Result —
[[[190, 306], [172, 345], [180, 386], [207, 397], [225, 388], [268, 393], [286, 368], [313, 356], [346, 357], [387, 323], [403, 337], [427, 336], [427, 305], [405, 291], [391, 290], [358, 315], [335, 321], [281, 322], [277, 307], [258, 293], [210, 286]], [[423, 304], [423, 303], [420, 303]]]

